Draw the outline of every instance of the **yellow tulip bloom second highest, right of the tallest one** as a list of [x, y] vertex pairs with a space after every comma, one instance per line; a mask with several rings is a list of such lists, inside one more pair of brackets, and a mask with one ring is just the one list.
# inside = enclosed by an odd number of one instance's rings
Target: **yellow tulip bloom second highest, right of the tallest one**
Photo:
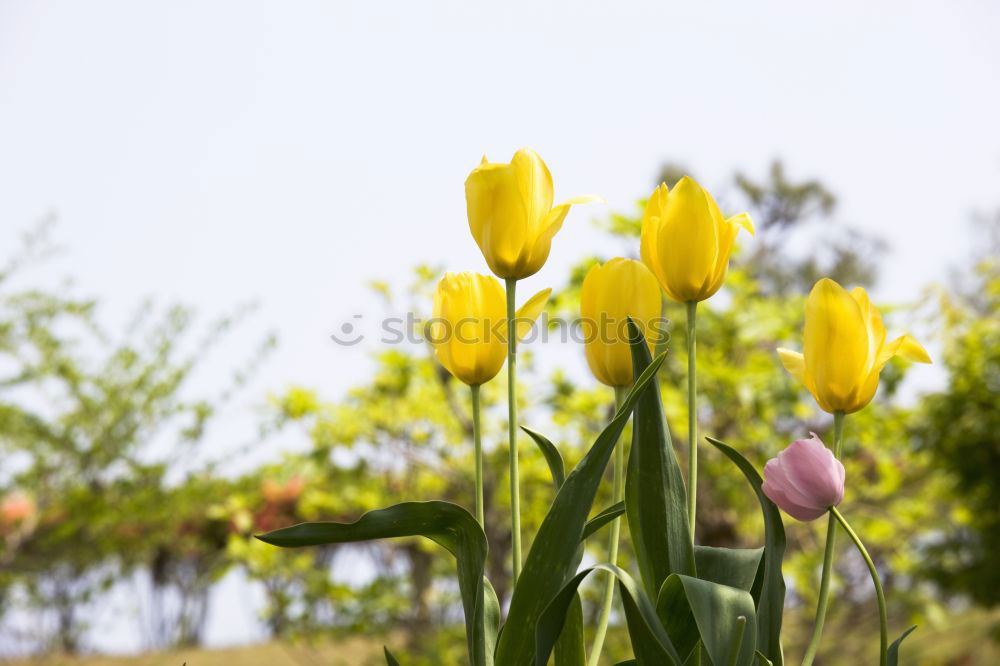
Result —
[[726, 279], [740, 227], [753, 235], [749, 215], [723, 217], [712, 195], [691, 178], [672, 191], [663, 183], [642, 216], [642, 261], [673, 300], [704, 301]]

